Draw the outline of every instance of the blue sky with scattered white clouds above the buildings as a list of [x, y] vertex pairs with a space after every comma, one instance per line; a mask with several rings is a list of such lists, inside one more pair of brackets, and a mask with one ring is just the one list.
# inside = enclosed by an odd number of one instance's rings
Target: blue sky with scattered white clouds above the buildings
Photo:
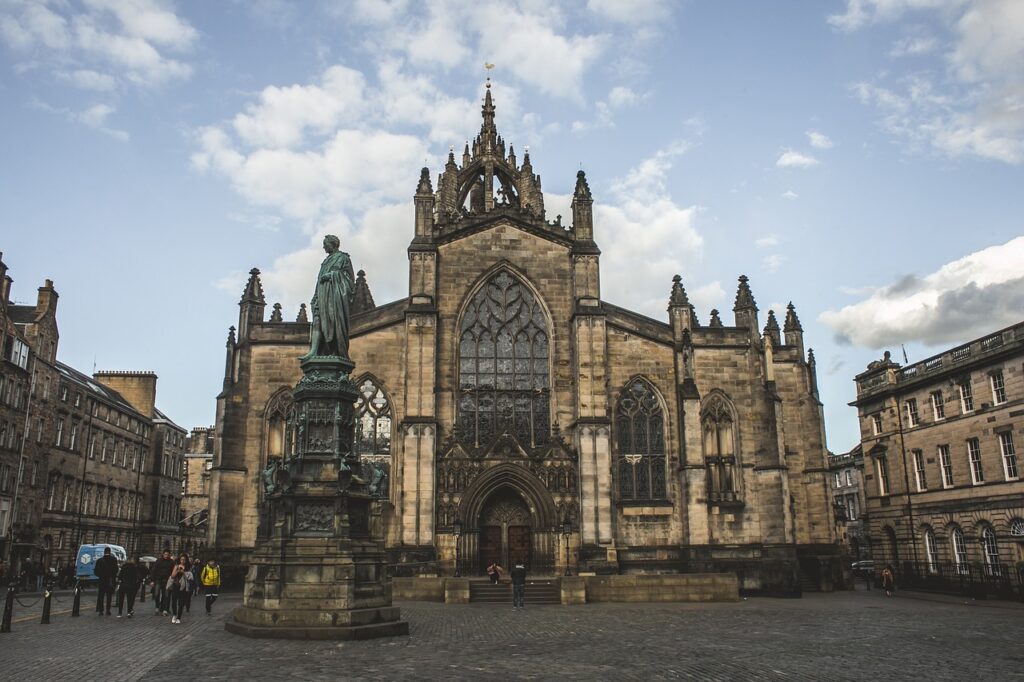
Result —
[[0, 251], [60, 294], [58, 358], [153, 370], [214, 421], [252, 267], [286, 319], [339, 235], [408, 294], [419, 170], [479, 129], [529, 147], [549, 216], [587, 172], [602, 298], [762, 325], [793, 301], [828, 447], [853, 377], [1021, 321], [1018, 0], [0, 0]]

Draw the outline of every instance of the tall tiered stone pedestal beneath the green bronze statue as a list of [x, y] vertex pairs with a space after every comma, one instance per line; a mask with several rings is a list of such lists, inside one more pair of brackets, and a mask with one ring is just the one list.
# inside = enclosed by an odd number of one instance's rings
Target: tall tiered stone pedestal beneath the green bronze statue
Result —
[[302, 361], [290, 450], [265, 501], [269, 537], [253, 553], [228, 632], [281, 639], [409, 634], [391, 605], [381, 503], [366, 491], [352, 455], [352, 367], [338, 357]]

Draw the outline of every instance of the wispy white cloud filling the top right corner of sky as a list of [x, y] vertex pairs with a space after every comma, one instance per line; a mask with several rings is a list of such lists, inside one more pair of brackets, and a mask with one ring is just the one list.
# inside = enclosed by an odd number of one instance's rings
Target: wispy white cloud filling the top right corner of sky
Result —
[[[913, 151], [1024, 163], [1024, 2], [849, 0], [829, 22], [853, 31], [911, 10], [930, 11], [950, 34], [942, 68], [858, 83], [860, 100]], [[904, 39], [891, 54], [927, 52], [938, 44], [930, 40]]]

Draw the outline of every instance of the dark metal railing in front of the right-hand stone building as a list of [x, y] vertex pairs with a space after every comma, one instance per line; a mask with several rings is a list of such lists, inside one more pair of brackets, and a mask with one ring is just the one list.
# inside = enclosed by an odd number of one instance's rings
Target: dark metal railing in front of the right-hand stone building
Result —
[[1009, 563], [904, 561], [896, 582], [908, 590], [1024, 601], [1024, 569]]

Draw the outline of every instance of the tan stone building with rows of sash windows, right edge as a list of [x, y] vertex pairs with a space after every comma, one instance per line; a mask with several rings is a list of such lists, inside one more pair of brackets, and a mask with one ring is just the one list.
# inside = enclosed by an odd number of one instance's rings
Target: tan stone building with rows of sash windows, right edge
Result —
[[1024, 560], [1024, 323], [856, 377], [876, 563], [1002, 577]]

